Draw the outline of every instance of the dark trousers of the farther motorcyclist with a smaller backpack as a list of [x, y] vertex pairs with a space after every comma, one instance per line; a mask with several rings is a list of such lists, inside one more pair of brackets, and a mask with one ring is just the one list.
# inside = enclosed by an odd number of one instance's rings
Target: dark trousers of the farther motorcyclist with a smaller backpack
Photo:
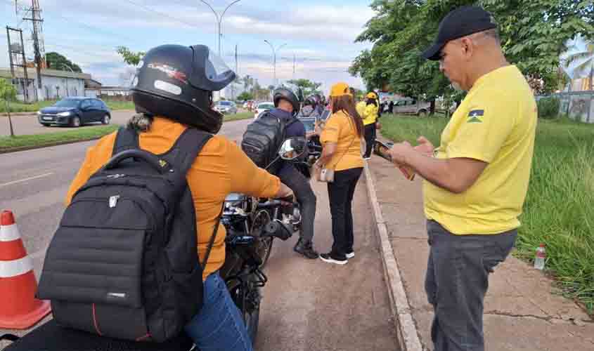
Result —
[[304, 241], [314, 239], [314, 220], [316, 219], [316, 194], [311, 190], [309, 180], [297, 171], [292, 164], [285, 164], [278, 172], [278, 178], [295, 194], [301, 205], [301, 232], [299, 235]]

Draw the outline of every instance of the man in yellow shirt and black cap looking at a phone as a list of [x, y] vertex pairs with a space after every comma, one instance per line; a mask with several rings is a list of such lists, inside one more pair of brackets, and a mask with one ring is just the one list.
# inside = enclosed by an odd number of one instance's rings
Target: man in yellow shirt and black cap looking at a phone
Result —
[[425, 290], [434, 306], [435, 351], [484, 350], [489, 273], [508, 256], [528, 189], [536, 102], [501, 51], [490, 13], [458, 8], [441, 21], [423, 56], [467, 96], [437, 149], [424, 137], [391, 150], [395, 164], [425, 178], [430, 256]]

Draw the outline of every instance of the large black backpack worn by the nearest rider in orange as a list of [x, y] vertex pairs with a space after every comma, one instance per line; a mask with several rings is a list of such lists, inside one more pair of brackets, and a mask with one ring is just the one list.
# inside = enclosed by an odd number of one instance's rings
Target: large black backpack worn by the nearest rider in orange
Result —
[[114, 156], [72, 197], [46, 253], [37, 296], [58, 324], [162, 342], [198, 313], [219, 225], [200, 264], [186, 173], [210, 138], [188, 128], [155, 155], [120, 128]]

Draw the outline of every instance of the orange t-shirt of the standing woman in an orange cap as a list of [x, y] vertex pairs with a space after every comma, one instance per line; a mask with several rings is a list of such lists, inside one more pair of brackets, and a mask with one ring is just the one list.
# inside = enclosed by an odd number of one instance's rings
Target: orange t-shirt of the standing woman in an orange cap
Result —
[[363, 167], [361, 157], [361, 137], [357, 135], [356, 126], [351, 117], [343, 111], [332, 114], [320, 135], [324, 143], [337, 143], [336, 152], [325, 166], [334, 168], [335, 171], [344, 171], [349, 168]]

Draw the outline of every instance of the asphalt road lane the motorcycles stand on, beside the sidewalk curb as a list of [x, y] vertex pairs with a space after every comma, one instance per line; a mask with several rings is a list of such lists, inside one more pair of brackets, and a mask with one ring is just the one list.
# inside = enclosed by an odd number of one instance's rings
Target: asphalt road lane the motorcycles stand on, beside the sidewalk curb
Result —
[[[248, 123], [226, 123], [221, 133], [240, 140]], [[67, 187], [92, 143], [0, 154], [0, 209], [15, 213], [38, 276]], [[325, 185], [312, 185], [318, 197], [314, 243], [326, 252], [332, 244], [328, 193]], [[397, 350], [369, 208], [361, 179], [354, 198], [356, 256], [347, 265], [298, 256], [292, 251], [297, 238], [275, 241], [256, 350]]]

